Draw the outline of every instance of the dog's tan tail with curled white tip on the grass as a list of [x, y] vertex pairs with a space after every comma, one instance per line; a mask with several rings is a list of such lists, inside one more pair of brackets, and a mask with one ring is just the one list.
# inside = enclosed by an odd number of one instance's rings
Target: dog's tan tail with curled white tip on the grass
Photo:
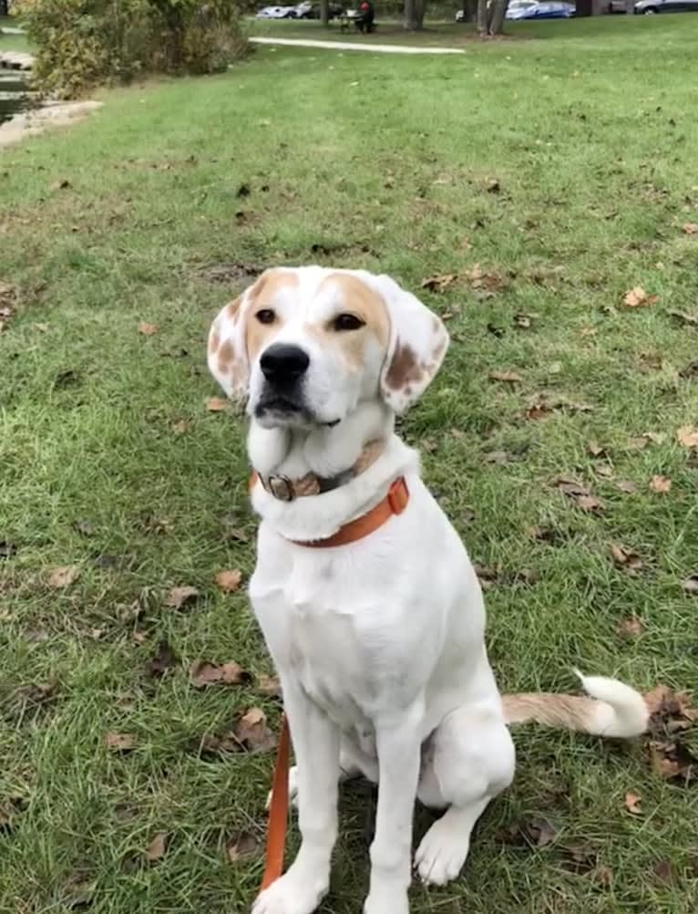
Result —
[[645, 732], [650, 712], [640, 692], [607, 676], [585, 676], [578, 671], [576, 675], [591, 697], [545, 692], [505, 695], [502, 702], [507, 724], [535, 721], [547, 727], [624, 739]]

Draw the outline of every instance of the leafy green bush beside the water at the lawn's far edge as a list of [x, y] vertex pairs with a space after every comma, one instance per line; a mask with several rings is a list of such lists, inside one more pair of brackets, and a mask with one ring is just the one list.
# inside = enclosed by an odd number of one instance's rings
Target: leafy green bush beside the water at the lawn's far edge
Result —
[[38, 90], [69, 98], [143, 72], [211, 73], [246, 51], [235, 0], [16, 0]]

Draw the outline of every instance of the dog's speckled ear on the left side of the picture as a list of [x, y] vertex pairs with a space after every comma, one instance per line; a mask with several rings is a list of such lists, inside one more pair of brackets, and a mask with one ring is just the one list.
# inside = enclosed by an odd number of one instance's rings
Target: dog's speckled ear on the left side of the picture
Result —
[[248, 293], [246, 290], [218, 312], [208, 334], [208, 370], [227, 396], [237, 400], [246, 399], [249, 386]]

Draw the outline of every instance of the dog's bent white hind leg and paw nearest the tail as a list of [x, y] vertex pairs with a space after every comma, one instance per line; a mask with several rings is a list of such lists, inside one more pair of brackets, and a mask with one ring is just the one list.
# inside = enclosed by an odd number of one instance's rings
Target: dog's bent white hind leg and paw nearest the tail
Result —
[[443, 886], [459, 875], [472, 829], [492, 797], [512, 782], [514, 765], [509, 730], [492, 709], [461, 707], [441, 721], [423, 760], [418, 797], [447, 809], [418, 846], [422, 882]]

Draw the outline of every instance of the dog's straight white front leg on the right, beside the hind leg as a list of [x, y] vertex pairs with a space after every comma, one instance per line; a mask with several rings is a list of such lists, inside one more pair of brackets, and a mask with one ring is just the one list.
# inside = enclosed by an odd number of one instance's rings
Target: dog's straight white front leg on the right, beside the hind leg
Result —
[[421, 702], [376, 721], [378, 809], [364, 914], [407, 914], [412, 819], [419, 777]]

